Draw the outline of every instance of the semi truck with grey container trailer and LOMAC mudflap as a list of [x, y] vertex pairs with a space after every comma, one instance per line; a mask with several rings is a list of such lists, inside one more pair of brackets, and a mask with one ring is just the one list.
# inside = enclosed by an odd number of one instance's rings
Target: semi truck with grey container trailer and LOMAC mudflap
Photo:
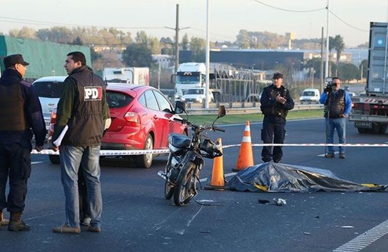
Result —
[[384, 134], [388, 127], [388, 23], [370, 22], [365, 96], [353, 97], [349, 120], [360, 134]]

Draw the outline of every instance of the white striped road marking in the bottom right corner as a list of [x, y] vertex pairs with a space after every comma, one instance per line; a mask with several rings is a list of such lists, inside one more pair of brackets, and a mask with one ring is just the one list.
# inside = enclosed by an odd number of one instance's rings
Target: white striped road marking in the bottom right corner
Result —
[[381, 222], [377, 226], [369, 229], [368, 231], [360, 234], [356, 238], [346, 242], [345, 244], [337, 247], [333, 252], [356, 252], [364, 249], [372, 244], [382, 236], [388, 233], [388, 220]]

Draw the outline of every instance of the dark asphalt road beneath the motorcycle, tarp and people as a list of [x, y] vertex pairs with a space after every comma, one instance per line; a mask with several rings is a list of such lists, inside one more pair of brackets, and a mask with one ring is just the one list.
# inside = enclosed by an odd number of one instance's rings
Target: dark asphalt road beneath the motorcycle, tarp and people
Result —
[[[260, 141], [260, 123], [251, 124], [252, 143]], [[217, 133], [223, 144], [238, 144], [244, 125]], [[325, 143], [324, 120], [287, 123], [287, 143]], [[360, 135], [347, 125], [348, 143], [385, 143], [385, 135]], [[261, 163], [260, 148], [253, 149]], [[284, 163], [330, 169], [355, 182], [388, 183], [386, 148], [347, 149], [345, 160], [326, 159], [322, 147], [286, 147]], [[234, 168], [238, 148], [224, 150], [224, 170]], [[241, 193], [202, 191], [196, 201], [176, 207], [163, 197], [157, 176], [166, 162], [159, 157], [150, 169], [131, 161], [107, 158], [102, 164], [103, 225], [101, 233], [52, 233], [64, 222], [64, 196], [59, 166], [33, 155], [24, 220], [30, 232], [0, 230], [0, 251], [332, 251], [388, 219], [387, 193]], [[37, 163], [36, 163], [37, 162]], [[206, 160], [201, 178], [211, 175]], [[258, 199], [282, 198], [287, 205], [260, 205]], [[7, 214], [8, 216], [8, 214]], [[366, 244], [366, 243], [365, 243]], [[362, 251], [386, 251], [382, 236]], [[346, 250], [350, 251], [350, 250]]]

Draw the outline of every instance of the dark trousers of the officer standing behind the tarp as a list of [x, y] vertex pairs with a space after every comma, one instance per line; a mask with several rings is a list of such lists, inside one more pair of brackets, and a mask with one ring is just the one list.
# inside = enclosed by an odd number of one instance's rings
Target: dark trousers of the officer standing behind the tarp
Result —
[[[286, 124], [263, 121], [262, 140], [265, 144], [283, 144], [286, 131]], [[278, 162], [283, 157], [281, 146], [275, 146], [272, 153], [272, 146], [264, 146], [262, 150], [262, 159], [264, 162], [269, 162], [271, 159]]]

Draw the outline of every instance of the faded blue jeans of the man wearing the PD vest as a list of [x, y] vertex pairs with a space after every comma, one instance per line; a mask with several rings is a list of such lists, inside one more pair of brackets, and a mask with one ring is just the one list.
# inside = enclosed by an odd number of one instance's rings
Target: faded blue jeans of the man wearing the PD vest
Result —
[[66, 198], [66, 224], [71, 227], [80, 226], [78, 170], [81, 163], [92, 219], [90, 225], [93, 227], [101, 226], [100, 147], [60, 146], [60, 177]]

